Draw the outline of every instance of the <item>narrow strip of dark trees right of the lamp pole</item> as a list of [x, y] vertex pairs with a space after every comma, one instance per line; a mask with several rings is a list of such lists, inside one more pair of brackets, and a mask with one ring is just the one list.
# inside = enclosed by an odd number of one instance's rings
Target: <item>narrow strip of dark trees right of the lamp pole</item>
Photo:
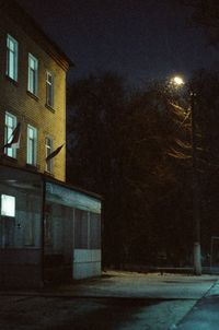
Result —
[[210, 250], [210, 237], [219, 236], [219, 75], [199, 71], [193, 79], [196, 91], [196, 121], [199, 132], [198, 174], [200, 187], [203, 249]]

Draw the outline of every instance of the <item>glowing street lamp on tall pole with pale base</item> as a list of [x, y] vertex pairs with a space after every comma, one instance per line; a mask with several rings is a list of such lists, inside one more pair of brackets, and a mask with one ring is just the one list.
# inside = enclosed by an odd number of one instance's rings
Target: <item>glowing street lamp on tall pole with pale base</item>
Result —
[[[174, 76], [171, 83], [175, 86], [185, 85], [181, 76]], [[193, 168], [193, 221], [194, 221], [194, 271], [196, 275], [201, 275], [201, 255], [200, 255], [200, 209], [199, 209], [199, 187], [197, 170], [197, 135], [195, 126], [195, 93], [192, 86], [188, 86], [191, 95], [191, 118], [192, 118], [192, 168]]]

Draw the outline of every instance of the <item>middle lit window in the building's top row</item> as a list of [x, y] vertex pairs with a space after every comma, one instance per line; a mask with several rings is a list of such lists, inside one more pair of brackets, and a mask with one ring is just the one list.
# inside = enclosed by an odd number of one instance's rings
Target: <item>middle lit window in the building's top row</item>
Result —
[[28, 92], [36, 95], [38, 87], [38, 60], [28, 54]]

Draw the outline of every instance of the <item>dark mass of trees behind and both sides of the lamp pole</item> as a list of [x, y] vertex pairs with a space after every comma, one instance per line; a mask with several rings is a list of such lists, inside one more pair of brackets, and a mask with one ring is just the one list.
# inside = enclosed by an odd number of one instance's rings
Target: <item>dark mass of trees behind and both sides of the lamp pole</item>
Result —
[[[198, 73], [193, 86], [208, 248], [212, 229], [216, 234], [218, 228], [208, 219], [210, 212], [216, 219], [218, 78]], [[105, 263], [154, 264], [163, 251], [170, 264], [188, 262], [193, 249], [189, 95], [163, 83], [132, 92], [113, 73], [80, 80], [68, 93], [68, 179], [104, 198]]]

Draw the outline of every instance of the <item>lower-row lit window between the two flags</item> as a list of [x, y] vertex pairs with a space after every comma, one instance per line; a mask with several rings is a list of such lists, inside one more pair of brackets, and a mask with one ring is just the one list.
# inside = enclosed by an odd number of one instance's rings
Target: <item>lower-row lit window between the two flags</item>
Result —
[[37, 130], [31, 125], [27, 126], [27, 153], [26, 163], [36, 165]]

